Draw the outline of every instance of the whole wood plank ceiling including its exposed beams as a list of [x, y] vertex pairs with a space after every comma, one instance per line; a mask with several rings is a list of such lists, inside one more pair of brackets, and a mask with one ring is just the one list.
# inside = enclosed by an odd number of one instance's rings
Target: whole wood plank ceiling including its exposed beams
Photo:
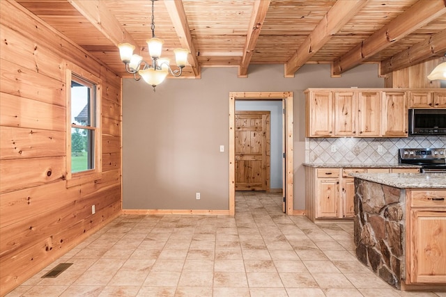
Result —
[[[116, 73], [128, 77], [119, 42], [150, 60], [150, 0], [17, 0]], [[174, 63], [177, 47], [191, 51], [184, 77], [201, 67], [284, 64], [293, 77], [305, 63], [330, 63], [341, 75], [360, 63], [380, 74], [446, 52], [446, 0], [157, 0], [155, 34]]]

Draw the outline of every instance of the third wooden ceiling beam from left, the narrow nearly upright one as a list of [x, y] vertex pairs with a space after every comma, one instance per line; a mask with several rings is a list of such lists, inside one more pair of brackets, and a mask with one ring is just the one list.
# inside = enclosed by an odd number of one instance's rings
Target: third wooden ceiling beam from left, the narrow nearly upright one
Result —
[[249, 20], [248, 33], [246, 36], [245, 48], [243, 50], [242, 62], [238, 67], [238, 77], [247, 77], [248, 66], [251, 62], [252, 54], [256, 49], [257, 40], [265, 21], [266, 13], [270, 7], [271, 0], [255, 0], [251, 19]]

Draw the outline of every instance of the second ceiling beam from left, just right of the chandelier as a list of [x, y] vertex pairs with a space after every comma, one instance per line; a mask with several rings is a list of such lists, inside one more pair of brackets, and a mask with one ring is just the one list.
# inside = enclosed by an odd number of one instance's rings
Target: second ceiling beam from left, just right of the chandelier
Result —
[[181, 0], [163, 1], [167, 8], [170, 19], [174, 24], [176, 35], [180, 38], [181, 47], [190, 52], [189, 63], [192, 66], [192, 71], [195, 77], [200, 76], [200, 67], [197, 61], [197, 51], [195, 51], [194, 42], [192, 42], [192, 35], [190, 34], [189, 24], [187, 24], [186, 13], [183, 2]]

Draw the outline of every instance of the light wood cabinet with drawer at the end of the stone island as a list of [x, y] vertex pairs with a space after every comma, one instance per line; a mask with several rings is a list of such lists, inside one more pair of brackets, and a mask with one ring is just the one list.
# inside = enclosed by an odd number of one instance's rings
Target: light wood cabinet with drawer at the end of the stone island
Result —
[[446, 284], [446, 191], [406, 195], [406, 284]]

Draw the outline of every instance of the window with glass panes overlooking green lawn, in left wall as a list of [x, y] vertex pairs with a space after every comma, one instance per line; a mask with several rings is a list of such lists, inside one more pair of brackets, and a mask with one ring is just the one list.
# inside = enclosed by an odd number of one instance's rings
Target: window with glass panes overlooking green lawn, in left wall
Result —
[[[69, 72], [67, 100], [67, 177], [100, 172], [98, 83]], [[98, 81], [99, 82], [99, 81]]]

